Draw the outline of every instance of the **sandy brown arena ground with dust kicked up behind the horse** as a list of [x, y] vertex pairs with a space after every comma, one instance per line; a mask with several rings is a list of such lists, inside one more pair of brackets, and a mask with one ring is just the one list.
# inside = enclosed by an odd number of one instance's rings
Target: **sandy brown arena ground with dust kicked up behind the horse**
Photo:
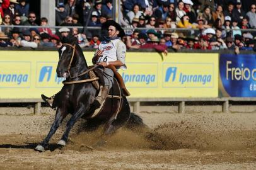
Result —
[[[0, 115], [0, 169], [256, 169], [256, 113], [142, 113], [150, 133], [125, 128], [93, 149], [100, 133], [84, 133], [80, 120], [64, 149], [33, 149], [54, 115]], [[64, 122], [65, 123], [65, 122]]]

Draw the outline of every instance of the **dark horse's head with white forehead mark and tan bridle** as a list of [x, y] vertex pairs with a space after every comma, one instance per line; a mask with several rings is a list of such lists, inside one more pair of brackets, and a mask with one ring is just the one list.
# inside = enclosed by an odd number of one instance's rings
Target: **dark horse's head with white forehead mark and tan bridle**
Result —
[[[59, 48], [59, 62], [56, 69], [58, 77], [76, 76], [79, 72], [86, 69], [87, 64], [81, 48], [76, 44], [76, 37], [69, 42], [63, 43]], [[71, 74], [72, 71], [72, 75]]]

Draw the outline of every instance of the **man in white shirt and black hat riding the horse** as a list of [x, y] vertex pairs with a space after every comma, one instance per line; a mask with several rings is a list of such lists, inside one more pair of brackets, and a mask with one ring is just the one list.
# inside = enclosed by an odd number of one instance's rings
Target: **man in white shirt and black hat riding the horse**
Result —
[[[108, 37], [103, 37], [104, 40], [98, 46], [92, 59], [93, 64], [98, 64], [98, 68], [103, 72], [105, 82], [105, 85], [101, 87], [101, 93], [98, 93], [98, 96], [96, 96], [93, 103], [96, 108], [103, 105], [108, 96], [108, 91], [113, 85], [114, 73], [112, 69], [109, 69], [107, 66], [111, 64], [115, 66], [116, 69], [126, 69], [126, 46], [121, 40], [121, 38], [125, 36], [124, 30], [119, 23], [116, 23], [113, 20], [108, 20], [105, 23], [105, 26], [105, 28], [108, 29]], [[44, 99], [51, 108], [55, 108], [52, 106], [54, 96], [49, 98], [42, 94], [42, 99]]]

